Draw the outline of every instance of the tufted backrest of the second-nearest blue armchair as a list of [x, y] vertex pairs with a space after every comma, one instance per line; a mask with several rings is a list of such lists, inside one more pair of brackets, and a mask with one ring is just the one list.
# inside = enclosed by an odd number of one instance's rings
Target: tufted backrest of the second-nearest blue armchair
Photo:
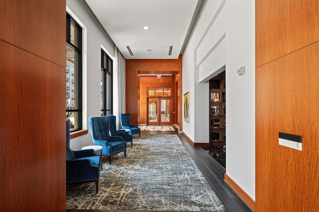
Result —
[[89, 127], [94, 140], [108, 141], [110, 139], [110, 122], [108, 116], [90, 117]]

